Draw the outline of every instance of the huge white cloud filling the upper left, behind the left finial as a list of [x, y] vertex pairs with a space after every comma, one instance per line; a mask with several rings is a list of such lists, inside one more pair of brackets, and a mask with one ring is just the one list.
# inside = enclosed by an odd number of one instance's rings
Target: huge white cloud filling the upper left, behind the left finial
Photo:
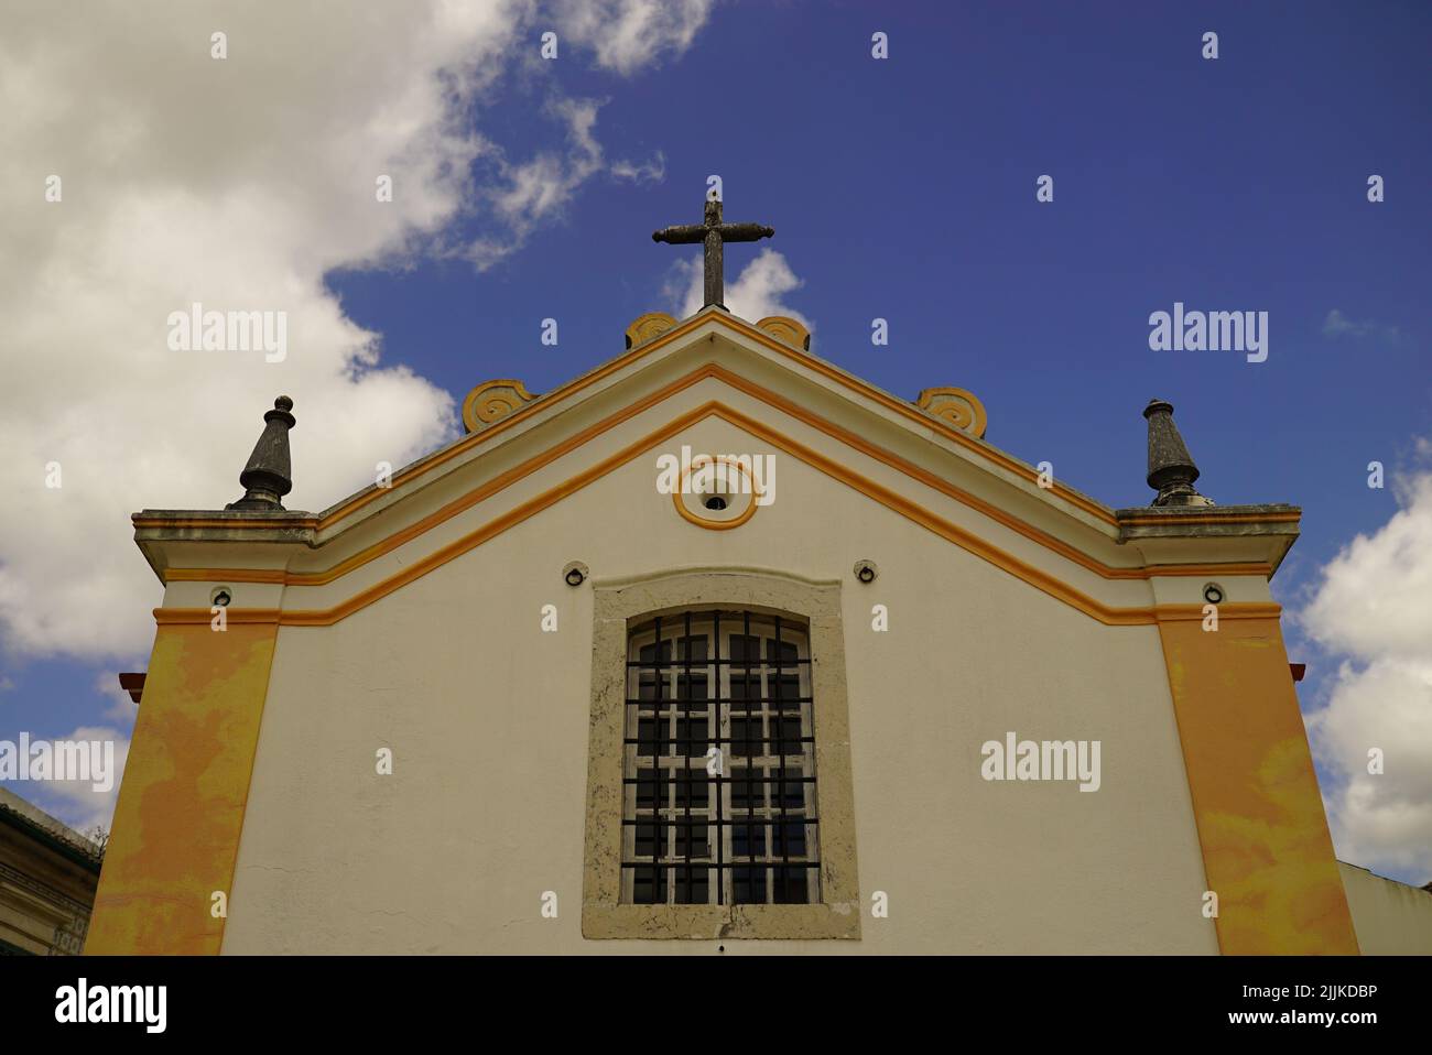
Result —
[[[569, 3], [621, 73], [690, 43], [706, 4]], [[379, 362], [325, 286], [402, 266], [477, 216], [511, 252], [601, 167], [596, 104], [508, 162], [474, 127], [537, 47], [530, 0], [21, 4], [0, 36], [0, 634], [32, 656], [127, 656], [159, 587], [127, 517], [219, 508], [275, 395], [294, 398], [291, 508], [321, 510], [455, 431], [451, 397]], [[211, 57], [211, 33], [228, 57]], [[564, 53], [570, 54], [570, 53]], [[491, 162], [493, 186], [473, 176]], [[62, 178], [60, 202], [44, 199]], [[375, 180], [392, 178], [392, 200]], [[621, 173], [616, 173], [621, 175]], [[172, 352], [192, 302], [282, 311], [288, 358]], [[57, 462], [62, 487], [46, 487]]]

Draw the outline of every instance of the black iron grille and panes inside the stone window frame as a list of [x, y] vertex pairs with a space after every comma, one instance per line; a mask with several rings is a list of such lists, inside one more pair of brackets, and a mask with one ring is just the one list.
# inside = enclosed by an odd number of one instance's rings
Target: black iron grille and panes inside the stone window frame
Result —
[[686, 611], [634, 627], [623, 902], [819, 903], [813, 719], [803, 623]]

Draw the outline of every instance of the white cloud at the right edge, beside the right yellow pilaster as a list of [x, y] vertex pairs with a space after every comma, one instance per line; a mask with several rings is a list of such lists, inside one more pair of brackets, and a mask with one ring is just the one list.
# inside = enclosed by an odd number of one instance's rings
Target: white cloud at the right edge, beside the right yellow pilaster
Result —
[[[1419, 444], [1419, 449], [1422, 445]], [[1375, 870], [1432, 879], [1432, 472], [1402, 508], [1325, 568], [1299, 623], [1346, 657], [1327, 706], [1307, 716], [1337, 853]], [[1369, 750], [1385, 757], [1368, 773]]]

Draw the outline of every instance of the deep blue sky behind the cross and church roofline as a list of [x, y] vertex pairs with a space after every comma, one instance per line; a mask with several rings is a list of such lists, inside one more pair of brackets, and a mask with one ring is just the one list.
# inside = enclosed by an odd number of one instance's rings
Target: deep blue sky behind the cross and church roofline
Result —
[[[561, 140], [554, 97], [591, 99], [607, 155], [660, 155], [664, 176], [593, 175], [487, 269], [420, 255], [334, 269], [328, 286], [381, 335], [385, 366], [455, 399], [497, 376], [547, 391], [619, 354], [634, 316], [674, 308], [664, 289], [699, 251], [650, 232], [696, 222], [719, 173], [727, 219], [776, 228], [760, 248], [800, 279], [783, 301], [813, 322], [816, 354], [908, 398], [974, 391], [991, 442], [1051, 461], [1073, 487], [1147, 504], [1140, 411], [1170, 399], [1204, 494], [1303, 508], [1273, 583], [1299, 607], [1342, 547], [1398, 511], [1393, 487], [1368, 488], [1368, 462], [1389, 480], [1419, 471], [1416, 441], [1432, 435], [1432, 7], [891, 7], [726, 3], [684, 50], [627, 76], [576, 47], [513, 69], [473, 115], [507, 156]], [[875, 30], [888, 60], [871, 57]], [[1217, 60], [1200, 56], [1206, 30]], [[480, 183], [488, 165], [474, 163]], [[1382, 203], [1368, 202], [1372, 173]], [[494, 226], [478, 200], [448, 235]], [[756, 252], [727, 249], [727, 282]], [[1266, 311], [1267, 361], [1150, 351], [1148, 315], [1176, 301]], [[869, 341], [876, 316], [889, 346]], [[558, 321], [554, 348], [540, 344], [544, 318]], [[321, 508], [342, 495], [304, 491], [305, 449], [324, 442], [305, 435], [304, 411], [299, 399], [291, 505]], [[142, 484], [133, 508], [158, 504]], [[146, 623], [152, 603], [119, 617]], [[1340, 657], [1293, 623], [1285, 633], [1290, 658], [1309, 663], [1313, 711]], [[0, 736], [129, 721], [103, 717], [113, 700], [95, 683], [143, 663], [11, 653]], [[1432, 877], [1419, 863], [1383, 870], [1399, 867]]]

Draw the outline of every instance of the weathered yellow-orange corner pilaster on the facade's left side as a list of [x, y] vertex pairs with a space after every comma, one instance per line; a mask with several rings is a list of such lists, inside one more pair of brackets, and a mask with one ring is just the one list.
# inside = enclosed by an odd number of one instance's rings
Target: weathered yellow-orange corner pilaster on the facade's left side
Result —
[[218, 953], [278, 627], [160, 626], [87, 953]]

